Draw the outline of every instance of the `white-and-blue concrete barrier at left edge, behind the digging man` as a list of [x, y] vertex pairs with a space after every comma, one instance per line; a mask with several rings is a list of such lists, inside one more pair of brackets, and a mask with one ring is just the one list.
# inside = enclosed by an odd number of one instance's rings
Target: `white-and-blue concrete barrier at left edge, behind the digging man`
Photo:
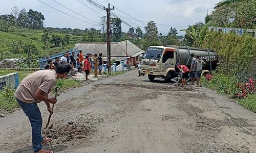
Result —
[[18, 73], [10, 73], [0, 76], [0, 90], [4, 87], [17, 88], [19, 84]]

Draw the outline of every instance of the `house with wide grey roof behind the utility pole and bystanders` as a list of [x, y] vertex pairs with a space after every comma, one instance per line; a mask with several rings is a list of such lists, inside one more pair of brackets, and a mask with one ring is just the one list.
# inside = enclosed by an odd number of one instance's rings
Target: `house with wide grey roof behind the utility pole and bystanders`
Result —
[[[126, 49], [127, 48], [127, 49]], [[88, 43], [76, 43], [73, 50], [82, 50], [83, 55], [91, 53], [92, 56], [99, 51], [102, 53], [102, 59], [107, 61], [107, 45], [106, 42], [88, 42]], [[132, 66], [135, 66], [139, 62], [139, 57], [144, 53], [144, 50], [133, 44], [129, 40], [121, 42], [111, 42], [111, 60], [115, 60], [117, 65], [120, 61], [125, 61], [130, 58]]]

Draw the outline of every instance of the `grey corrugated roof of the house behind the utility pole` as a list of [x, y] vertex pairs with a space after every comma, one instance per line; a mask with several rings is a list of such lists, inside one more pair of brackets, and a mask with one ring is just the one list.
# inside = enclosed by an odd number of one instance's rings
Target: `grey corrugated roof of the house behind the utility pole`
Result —
[[[74, 49], [82, 50], [83, 55], [88, 53], [94, 55], [99, 50], [99, 53], [102, 53], [102, 56], [107, 56], [107, 45], [104, 42], [76, 43]], [[127, 40], [127, 56], [135, 55], [141, 51], [143, 50]], [[111, 42], [111, 57], [126, 57], [126, 40], [121, 42]]]

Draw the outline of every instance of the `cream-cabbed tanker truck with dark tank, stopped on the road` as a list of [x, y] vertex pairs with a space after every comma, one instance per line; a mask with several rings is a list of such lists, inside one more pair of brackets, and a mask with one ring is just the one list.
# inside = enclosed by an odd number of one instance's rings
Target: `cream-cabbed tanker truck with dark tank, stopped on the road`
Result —
[[142, 56], [141, 73], [147, 74], [150, 81], [155, 78], [162, 78], [164, 82], [170, 83], [173, 78], [177, 77], [177, 63], [190, 68], [192, 60], [190, 55], [192, 53], [205, 62], [202, 70], [203, 75], [216, 68], [218, 55], [213, 49], [176, 45], [150, 46]]

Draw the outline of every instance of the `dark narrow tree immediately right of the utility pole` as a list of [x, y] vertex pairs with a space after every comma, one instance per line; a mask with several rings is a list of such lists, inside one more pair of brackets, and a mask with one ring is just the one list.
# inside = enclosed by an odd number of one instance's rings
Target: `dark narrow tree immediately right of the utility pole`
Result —
[[112, 35], [111, 39], [113, 41], [120, 41], [120, 38], [122, 36], [122, 27], [121, 27], [122, 20], [118, 17], [111, 18], [111, 29], [112, 29]]

